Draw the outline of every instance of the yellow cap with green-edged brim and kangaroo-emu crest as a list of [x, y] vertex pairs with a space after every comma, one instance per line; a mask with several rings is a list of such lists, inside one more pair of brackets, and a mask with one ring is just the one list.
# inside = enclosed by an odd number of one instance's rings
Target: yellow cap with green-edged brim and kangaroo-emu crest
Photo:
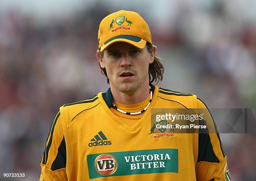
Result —
[[136, 12], [120, 10], [106, 16], [100, 23], [98, 43], [100, 51], [115, 42], [125, 42], [137, 48], [151, 45], [151, 33], [146, 21]]

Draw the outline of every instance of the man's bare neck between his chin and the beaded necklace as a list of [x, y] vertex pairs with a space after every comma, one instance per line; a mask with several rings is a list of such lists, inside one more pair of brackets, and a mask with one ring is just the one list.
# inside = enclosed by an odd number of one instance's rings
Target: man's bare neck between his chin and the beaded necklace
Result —
[[133, 93], [124, 93], [115, 89], [115, 87], [111, 86], [111, 93], [113, 100], [123, 105], [133, 105], [143, 100], [147, 99], [149, 96], [149, 87], [148, 83], [141, 86], [136, 92]]

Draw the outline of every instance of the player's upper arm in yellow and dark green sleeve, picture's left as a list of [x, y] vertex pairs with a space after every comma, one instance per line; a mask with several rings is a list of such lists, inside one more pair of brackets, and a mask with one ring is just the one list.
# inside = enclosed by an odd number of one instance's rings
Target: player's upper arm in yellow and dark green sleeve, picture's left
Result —
[[60, 112], [58, 112], [51, 124], [41, 159], [40, 181], [67, 180], [66, 160], [66, 143], [61, 127]]

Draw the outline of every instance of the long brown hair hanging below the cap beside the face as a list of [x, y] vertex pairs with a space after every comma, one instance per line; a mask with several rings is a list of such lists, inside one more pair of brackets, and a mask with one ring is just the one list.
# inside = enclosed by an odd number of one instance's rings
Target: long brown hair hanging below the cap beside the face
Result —
[[[156, 47], [156, 46], [151, 45], [150, 43], [147, 42], [146, 47], [147, 47], [148, 52], [152, 53], [152, 51], [154, 50], [154, 47]], [[103, 52], [100, 52], [101, 58], [103, 58], [103, 55], [104, 55]], [[100, 61], [98, 63], [100, 66]], [[100, 66], [100, 69], [101, 69], [101, 73], [106, 76], [107, 82], [109, 84], [109, 79], [108, 79], [108, 74], [107, 74], [106, 69], [105, 68], [102, 69], [101, 66]], [[153, 63], [149, 64], [149, 66], [148, 66], [149, 83], [156, 82], [156, 84], [157, 84], [159, 81], [162, 81], [163, 74], [164, 74], [164, 66], [161, 63], [161, 59], [158, 56], [156, 56], [156, 54], [155, 54]]]

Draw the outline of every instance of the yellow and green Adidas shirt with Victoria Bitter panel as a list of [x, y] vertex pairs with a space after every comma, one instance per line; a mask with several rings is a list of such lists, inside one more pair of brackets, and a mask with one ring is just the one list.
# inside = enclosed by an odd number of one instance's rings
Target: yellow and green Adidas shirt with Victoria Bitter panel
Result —
[[[217, 130], [153, 138], [159, 134], [151, 134], [152, 109], [207, 107], [195, 95], [150, 86], [153, 97], [143, 115], [114, 110], [110, 89], [60, 107], [46, 140], [40, 181], [230, 181]], [[137, 112], [148, 101], [116, 105]], [[206, 125], [214, 125], [207, 114]]]

